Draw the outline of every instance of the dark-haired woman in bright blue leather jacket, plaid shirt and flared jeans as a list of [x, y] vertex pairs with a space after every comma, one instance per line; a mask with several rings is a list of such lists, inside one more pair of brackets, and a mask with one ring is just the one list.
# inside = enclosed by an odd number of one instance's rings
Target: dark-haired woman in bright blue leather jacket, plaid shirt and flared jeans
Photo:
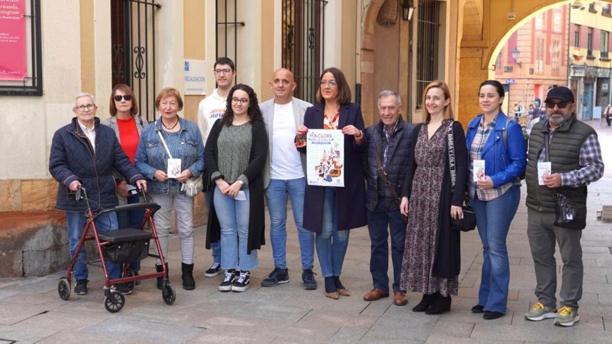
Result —
[[[506, 236], [521, 196], [519, 176], [527, 164], [523, 131], [501, 111], [503, 101], [504, 87], [499, 81], [483, 82], [479, 91], [482, 113], [469, 122], [466, 135], [469, 198], [483, 246], [478, 304], [472, 312], [484, 313], [485, 320], [506, 313], [510, 283]], [[484, 171], [479, 168], [482, 160]], [[474, 171], [474, 162], [478, 171]]]

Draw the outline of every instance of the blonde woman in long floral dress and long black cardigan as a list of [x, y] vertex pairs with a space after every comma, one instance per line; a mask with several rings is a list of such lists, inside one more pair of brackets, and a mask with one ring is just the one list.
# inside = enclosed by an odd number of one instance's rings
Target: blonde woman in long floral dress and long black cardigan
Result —
[[[463, 216], [466, 190], [466, 145], [463, 127], [453, 121], [450, 91], [433, 81], [424, 92], [427, 119], [412, 132], [415, 142], [400, 210], [408, 215], [400, 287], [423, 293], [414, 312], [441, 314], [457, 295], [460, 271], [460, 232], [450, 219]], [[450, 179], [448, 139], [455, 151], [455, 187]]]

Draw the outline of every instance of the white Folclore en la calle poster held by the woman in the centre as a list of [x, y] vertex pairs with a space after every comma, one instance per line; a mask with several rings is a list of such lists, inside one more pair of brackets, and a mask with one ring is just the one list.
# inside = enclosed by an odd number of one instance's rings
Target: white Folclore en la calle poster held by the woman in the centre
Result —
[[344, 187], [344, 134], [310, 129], [306, 135], [308, 185]]

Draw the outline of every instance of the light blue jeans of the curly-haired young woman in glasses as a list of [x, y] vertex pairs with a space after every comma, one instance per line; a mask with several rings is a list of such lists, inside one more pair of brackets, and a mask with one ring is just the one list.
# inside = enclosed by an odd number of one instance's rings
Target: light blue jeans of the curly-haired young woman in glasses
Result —
[[215, 187], [215, 212], [221, 226], [221, 267], [223, 269], [253, 270], [257, 267], [257, 250], [248, 254], [248, 214], [250, 201], [237, 201]]

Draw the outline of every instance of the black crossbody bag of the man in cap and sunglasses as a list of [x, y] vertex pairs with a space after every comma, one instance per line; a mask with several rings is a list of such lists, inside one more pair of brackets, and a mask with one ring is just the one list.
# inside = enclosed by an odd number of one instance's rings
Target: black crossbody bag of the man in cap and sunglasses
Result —
[[[544, 151], [546, 161], [550, 161], [548, 133], [544, 133]], [[572, 198], [582, 195], [582, 191], [576, 190], [553, 190], [554, 205], [557, 208], [557, 219], [554, 222], [555, 226], [570, 228], [573, 230], [582, 230], [586, 227], [586, 209], [578, 208], [572, 201]]]

